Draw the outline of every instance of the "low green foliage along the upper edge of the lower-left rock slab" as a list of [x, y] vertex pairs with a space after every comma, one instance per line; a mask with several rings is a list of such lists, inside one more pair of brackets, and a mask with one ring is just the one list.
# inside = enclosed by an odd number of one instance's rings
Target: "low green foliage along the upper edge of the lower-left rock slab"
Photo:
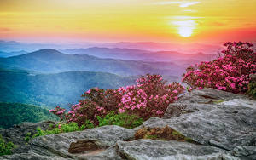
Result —
[[77, 123], [58, 123], [55, 128], [43, 130], [38, 127], [38, 133], [34, 134], [32, 138], [48, 135], [48, 134], [61, 134], [61, 133], [67, 133], [67, 132], [74, 132], [74, 131], [81, 131], [84, 130], [84, 125], [82, 125], [80, 128]]

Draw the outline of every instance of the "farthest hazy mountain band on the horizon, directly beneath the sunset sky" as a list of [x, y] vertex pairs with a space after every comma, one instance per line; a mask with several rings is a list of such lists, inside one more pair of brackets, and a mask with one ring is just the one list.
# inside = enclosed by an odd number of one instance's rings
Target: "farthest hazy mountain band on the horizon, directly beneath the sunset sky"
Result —
[[149, 51], [171, 50], [184, 54], [195, 54], [203, 52], [205, 54], [216, 54], [217, 51], [223, 49], [223, 43], [156, 43], [156, 42], [117, 42], [117, 43], [22, 43], [17, 41], [0, 40], [0, 50], [3, 52], [14, 52], [26, 50], [33, 52], [38, 49], [86, 49], [86, 48], [119, 48], [119, 49], [139, 49]]

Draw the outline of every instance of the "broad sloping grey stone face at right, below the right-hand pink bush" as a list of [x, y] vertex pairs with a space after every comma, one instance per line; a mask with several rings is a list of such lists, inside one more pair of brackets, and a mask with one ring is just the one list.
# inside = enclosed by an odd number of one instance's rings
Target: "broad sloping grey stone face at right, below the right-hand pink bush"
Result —
[[168, 119], [151, 117], [143, 125], [149, 128], [168, 125], [196, 142], [228, 151], [256, 143], [256, 110], [253, 108], [190, 104], [185, 110], [193, 112]]

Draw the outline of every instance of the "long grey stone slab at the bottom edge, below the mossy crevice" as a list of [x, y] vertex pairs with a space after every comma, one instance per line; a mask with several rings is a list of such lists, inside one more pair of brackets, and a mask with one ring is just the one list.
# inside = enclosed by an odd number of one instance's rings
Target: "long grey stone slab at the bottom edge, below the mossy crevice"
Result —
[[230, 156], [229, 151], [223, 151], [216, 147], [195, 145], [175, 140], [118, 141], [117, 146], [120, 153], [131, 160], [238, 159], [237, 157]]

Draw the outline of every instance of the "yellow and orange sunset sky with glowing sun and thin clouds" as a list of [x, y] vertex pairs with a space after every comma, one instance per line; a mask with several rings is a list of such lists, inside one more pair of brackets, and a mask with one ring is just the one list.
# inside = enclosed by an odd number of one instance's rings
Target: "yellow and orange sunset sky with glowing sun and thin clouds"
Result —
[[1, 0], [0, 39], [256, 41], [256, 0]]

